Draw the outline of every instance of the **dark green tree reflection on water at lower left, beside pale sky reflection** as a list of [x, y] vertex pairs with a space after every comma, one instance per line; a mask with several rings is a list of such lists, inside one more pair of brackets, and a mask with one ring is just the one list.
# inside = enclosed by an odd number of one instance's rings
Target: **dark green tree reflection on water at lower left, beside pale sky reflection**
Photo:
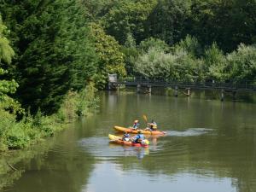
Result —
[[0, 191], [81, 191], [96, 160], [77, 148], [76, 131], [71, 128], [32, 148], [12, 152], [6, 160], [18, 171], [1, 174]]

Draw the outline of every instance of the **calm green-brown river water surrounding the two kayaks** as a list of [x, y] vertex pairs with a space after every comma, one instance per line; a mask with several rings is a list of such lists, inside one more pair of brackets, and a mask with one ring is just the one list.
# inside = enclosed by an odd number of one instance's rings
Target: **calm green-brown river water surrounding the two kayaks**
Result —
[[[256, 105], [103, 93], [100, 112], [33, 148], [14, 192], [255, 192]], [[108, 143], [143, 114], [166, 137], [147, 148]], [[37, 152], [38, 151], [38, 152]], [[32, 152], [30, 152], [32, 153]]]

